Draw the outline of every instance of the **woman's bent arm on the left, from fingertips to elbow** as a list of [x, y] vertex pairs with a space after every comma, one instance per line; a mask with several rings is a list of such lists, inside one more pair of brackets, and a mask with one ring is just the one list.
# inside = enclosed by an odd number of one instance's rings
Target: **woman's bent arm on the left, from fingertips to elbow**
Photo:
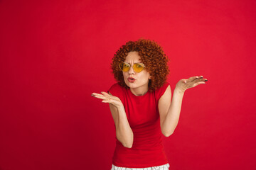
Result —
[[110, 111], [114, 119], [117, 140], [119, 140], [124, 147], [131, 148], [134, 135], [127, 120], [122, 101], [118, 97], [112, 96], [112, 94], [107, 94], [106, 92], [102, 92], [102, 94], [93, 93], [92, 96], [102, 99], [103, 103], [110, 104]]

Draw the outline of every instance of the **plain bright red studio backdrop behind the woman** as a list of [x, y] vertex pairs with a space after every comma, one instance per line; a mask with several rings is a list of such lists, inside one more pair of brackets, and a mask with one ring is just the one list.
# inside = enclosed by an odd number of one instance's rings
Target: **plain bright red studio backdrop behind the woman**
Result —
[[256, 1], [0, 1], [0, 169], [111, 169], [114, 121], [90, 96], [114, 52], [155, 40], [188, 89], [170, 169], [255, 169]]

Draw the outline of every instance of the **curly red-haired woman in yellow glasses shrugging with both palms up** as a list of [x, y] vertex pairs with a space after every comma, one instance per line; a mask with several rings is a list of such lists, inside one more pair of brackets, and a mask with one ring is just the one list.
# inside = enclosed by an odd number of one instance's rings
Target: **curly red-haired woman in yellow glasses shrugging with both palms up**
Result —
[[174, 132], [186, 89], [206, 84], [207, 79], [181, 79], [171, 101], [168, 57], [151, 40], [127, 42], [111, 65], [117, 84], [108, 93], [92, 96], [110, 104], [117, 138], [112, 170], [169, 169], [161, 134], [169, 137]]

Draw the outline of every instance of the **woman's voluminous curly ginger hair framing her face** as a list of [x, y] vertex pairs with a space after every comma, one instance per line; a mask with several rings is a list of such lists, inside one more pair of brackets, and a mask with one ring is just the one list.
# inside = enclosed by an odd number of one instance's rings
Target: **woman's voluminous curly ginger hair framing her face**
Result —
[[129, 89], [129, 86], [124, 82], [122, 70], [119, 69], [118, 65], [124, 62], [129, 52], [134, 51], [139, 52], [140, 60], [145, 65], [146, 71], [151, 75], [149, 91], [159, 89], [164, 85], [169, 74], [169, 58], [154, 40], [139, 39], [122, 45], [112, 58], [111, 69], [114, 79], [117, 80], [120, 86]]

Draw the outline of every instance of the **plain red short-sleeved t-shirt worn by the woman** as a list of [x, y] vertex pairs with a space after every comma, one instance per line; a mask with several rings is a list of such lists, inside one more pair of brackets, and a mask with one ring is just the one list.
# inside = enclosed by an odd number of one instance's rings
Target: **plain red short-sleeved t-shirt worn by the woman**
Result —
[[130, 89], [113, 84], [108, 90], [120, 98], [124, 105], [134, 141], [132, 148], [122, 145], [116, 137], [116, 147], [112, 163], [127, 168], [146, 168], [168, 163], [161, 140], [158, 101], [169, 86], [165, 83], [156, 91], [147, 91], [143, 96], [135, 96]]

